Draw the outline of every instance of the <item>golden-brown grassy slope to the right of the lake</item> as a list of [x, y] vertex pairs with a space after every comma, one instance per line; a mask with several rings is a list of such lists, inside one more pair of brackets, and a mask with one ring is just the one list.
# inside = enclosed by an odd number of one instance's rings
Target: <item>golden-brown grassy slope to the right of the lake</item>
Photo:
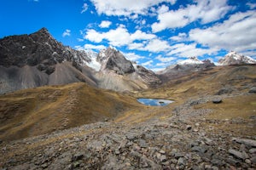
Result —
[[[189, 76], [172, 80], [160, 88], [137, 93], [137, 97], [154, 97], [160, 99], [174, 99], [175, 103], [167, 105], [160, 110], [151, 110], [154, 116], [160, 118], [172, 116], [173, 108], [182, 105], [188, 99], [204, 98], [214, 95], [223, 87], [236, 88], [241, 96], [228, 97], [219, 105], [212, 102], [195, 105], [194, 109], [212, 109], [207, 115], [207, 120], [244, 119], [245, 123], [221, 123], [216, 125], [217, 129], [230, 130], [232, 133], [247, 133], [256, 135], [256, 122], [250, 116], [256, 116], [256, 94], [248, 94], [250, 87], [256, 86], [256, 65], [224, 66], [216, 67], [208, 71], [192, 72]], [[154, 111], [155, 110], [155, 111]], [[149, 111], [150, 112], [150, 111]], [[131, 119], [135, 119], [131, 117]], [[205, 126], [212, 126], [206, 123]]]

